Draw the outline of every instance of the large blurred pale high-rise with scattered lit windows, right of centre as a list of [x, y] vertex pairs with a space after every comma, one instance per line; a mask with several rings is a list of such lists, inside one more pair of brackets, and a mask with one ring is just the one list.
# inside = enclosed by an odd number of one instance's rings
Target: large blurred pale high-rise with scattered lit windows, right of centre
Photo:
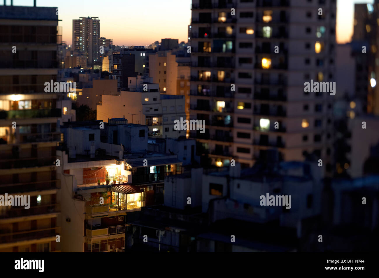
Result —
[[335, 0], [193, 1], [190, 118], [207, 128], [190, 137], [212, 164], [251, 166], [274, 148], [330, 171], [334, 96], [304, 82], [335, 81], [335, 18]]

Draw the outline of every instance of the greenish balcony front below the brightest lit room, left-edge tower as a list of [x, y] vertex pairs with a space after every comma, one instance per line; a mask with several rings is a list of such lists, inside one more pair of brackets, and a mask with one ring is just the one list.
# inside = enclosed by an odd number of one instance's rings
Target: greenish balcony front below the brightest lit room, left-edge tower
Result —
[[62, 116], [62, 111], [59, 108], [0, 111], [0, 120], [29, 119], [29, 118], [52, 118], [52, 117], [61, 117], [61, 116]]

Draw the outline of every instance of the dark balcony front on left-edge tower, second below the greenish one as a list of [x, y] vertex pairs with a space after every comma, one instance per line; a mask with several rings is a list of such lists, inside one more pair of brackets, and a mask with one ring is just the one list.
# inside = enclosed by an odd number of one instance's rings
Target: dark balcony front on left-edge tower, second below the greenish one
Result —
[[56, 156], [1, 159], [0, 169], [54, 166], [55, 160]]

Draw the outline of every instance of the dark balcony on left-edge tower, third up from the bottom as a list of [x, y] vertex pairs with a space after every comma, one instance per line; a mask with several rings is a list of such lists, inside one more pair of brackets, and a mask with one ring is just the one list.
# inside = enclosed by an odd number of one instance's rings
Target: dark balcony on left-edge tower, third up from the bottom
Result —
[[0, 185], [0, 193], [32, 192], [61, 188], [60, 180], [47, 180], [44, 182], [21, 182]]

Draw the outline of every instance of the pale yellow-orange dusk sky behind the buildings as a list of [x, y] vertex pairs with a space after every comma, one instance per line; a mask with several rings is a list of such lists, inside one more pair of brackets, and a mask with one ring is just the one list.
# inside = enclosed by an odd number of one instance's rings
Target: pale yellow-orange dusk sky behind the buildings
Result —
[[[1, 1], [1, 0], [0, 0]], [[191, 0], [37, 0], [37, 6], [59, 8], [63, 40], [72, 43], [72, 19], [100, 19], [100, 36], [114, 45], [149, 45], [162, 38], [187, 41]], [[337, 0], [337, 42], [349, 42], [353, 31], [354, 3], [373, 0]], [[10, 5], [10, 0], [7, 0]], [[33, 6], [33, 0], [14, 0], [15, 6]]]

